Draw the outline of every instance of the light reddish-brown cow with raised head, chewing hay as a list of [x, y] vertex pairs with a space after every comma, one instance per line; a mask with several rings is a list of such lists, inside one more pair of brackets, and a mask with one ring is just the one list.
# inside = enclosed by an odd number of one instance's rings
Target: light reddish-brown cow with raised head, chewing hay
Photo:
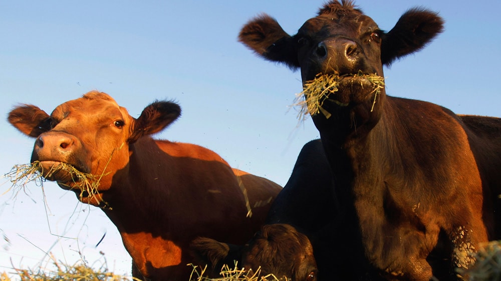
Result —
[[[247, 241], [282, 187], [231, 168], [207, 148], [151, 137], [180, 112], [177, 103], [157, 100], [136, 119], [108, 94], [90, 91], [50, 115], [19, 105], [8, 120], [36, 138], [31, 161], [46, 179], [102, 208], [142, 275], [188, 280], [191, 240]], [[58, 168], [62, 164], [77, 171]], [[97, 186], [82, 189], [78, 172]]]

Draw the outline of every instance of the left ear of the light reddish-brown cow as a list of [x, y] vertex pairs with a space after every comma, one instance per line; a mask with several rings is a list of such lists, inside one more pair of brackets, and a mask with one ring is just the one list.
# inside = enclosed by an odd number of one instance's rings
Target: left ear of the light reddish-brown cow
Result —
[[38, 137], [51, 129], [51, 118], [44, 110], [31, 104], [22, 104], [9, 112], [8, 121], [22, 133]]

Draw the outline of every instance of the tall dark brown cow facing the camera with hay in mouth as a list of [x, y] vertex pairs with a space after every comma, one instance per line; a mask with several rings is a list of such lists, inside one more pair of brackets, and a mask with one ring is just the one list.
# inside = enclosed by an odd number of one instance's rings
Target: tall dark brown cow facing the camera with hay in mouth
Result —
[[501, 238], [500, 119], [389, 96], [373, 79], [423, 48], [443, 23], [436, 12], [411, 8], [385, 32], [353, 1], [331, 0], [295, 35], [267, 14], [239, 33], [261, 57], [301, 70], [306, 101], [316, 79], [338, 78], [337, 91], [309, 112], [339, 202], [341, 227], [332, 231], [340, 279], [455, 279], [479, 243]]

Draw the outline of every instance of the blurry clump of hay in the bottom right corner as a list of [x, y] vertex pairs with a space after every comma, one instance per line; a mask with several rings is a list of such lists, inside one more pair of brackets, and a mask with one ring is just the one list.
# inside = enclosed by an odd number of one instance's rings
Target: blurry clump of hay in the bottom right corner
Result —
[[468, 269], [457, 268], [457, 272], [468, 281], [501, 280], [501, 241], [491, 241], [480, 245], [474, 254], [475, 263]]

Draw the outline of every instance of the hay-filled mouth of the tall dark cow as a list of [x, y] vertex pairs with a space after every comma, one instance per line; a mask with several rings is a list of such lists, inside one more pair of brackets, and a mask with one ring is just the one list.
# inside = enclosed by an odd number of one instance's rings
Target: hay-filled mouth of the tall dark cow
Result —
[[375, 102], [382, 88], [384, 78], [377, 74], [317, 74], [303, 84], [303, 91], [297, 95], [297, 100], [303, 96], [305, 99], [296, 104], [301, 105], [300, 115], [322, 113], [329, 118], [331, 112], [325, 108], [325, 102], [329, 102], [329, 107], [347, 107], [350, 103], [364, 102], [371, 96]]

